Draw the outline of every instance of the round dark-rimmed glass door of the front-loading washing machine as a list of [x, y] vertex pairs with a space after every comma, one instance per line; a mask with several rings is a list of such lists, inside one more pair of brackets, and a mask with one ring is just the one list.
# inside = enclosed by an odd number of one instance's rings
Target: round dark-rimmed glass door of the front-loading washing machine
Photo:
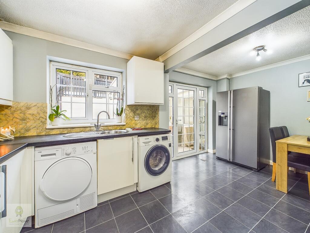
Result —
[[166, 146], [161, 144], [150, 148], [144, 159], [144, 167], [152, 176], [158, 176], [166, 171], [169, 163], [170, 152]]

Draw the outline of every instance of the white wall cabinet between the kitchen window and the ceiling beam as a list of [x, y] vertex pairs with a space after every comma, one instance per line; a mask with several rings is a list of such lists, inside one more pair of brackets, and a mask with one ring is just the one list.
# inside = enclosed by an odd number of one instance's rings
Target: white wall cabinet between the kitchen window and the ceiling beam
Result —
[[164, 104], [164, 63], [142, 57], [127, 62], [127, 105]]

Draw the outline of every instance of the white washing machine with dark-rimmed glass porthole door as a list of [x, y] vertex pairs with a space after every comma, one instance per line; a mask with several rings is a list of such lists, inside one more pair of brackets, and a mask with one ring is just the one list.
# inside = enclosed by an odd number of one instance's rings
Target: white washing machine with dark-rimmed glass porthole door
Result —
[[138, 184], [143, 192], [171, 181], [171, 135], [138, 137]]

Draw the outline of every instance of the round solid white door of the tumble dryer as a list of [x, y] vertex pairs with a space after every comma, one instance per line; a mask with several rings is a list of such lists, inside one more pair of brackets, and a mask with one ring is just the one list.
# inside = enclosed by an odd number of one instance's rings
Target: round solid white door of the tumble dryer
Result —
[[45, 171], [40, 182], [40, 190], [51, 200], [70, 200], [86, 190], [91, 182], [91, 176], [91, 166], [85, 159], [63, 158]]

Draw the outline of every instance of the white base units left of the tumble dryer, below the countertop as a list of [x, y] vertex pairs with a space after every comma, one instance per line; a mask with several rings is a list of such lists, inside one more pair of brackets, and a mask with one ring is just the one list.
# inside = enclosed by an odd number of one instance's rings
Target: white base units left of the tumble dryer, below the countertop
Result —
[[[12, 217], [17, 206], [21, 206], [23, 213], [21, 219], [25, 221], [32, 215], [32, 155], [27, 149], [22, 150], [7, 161], [6, 165], [6, 217], [0, 219], [0, 232], [20, 232], [22, 225], [7, 226], [7, 218]], [[1, 190], [3, 184], [1, 182]], [[15, 215], [13, 216], [15, 217]], [[14, 219], [15, 220], [15, 219]], [[29, 228], [30, 229], [30, 228]]]

